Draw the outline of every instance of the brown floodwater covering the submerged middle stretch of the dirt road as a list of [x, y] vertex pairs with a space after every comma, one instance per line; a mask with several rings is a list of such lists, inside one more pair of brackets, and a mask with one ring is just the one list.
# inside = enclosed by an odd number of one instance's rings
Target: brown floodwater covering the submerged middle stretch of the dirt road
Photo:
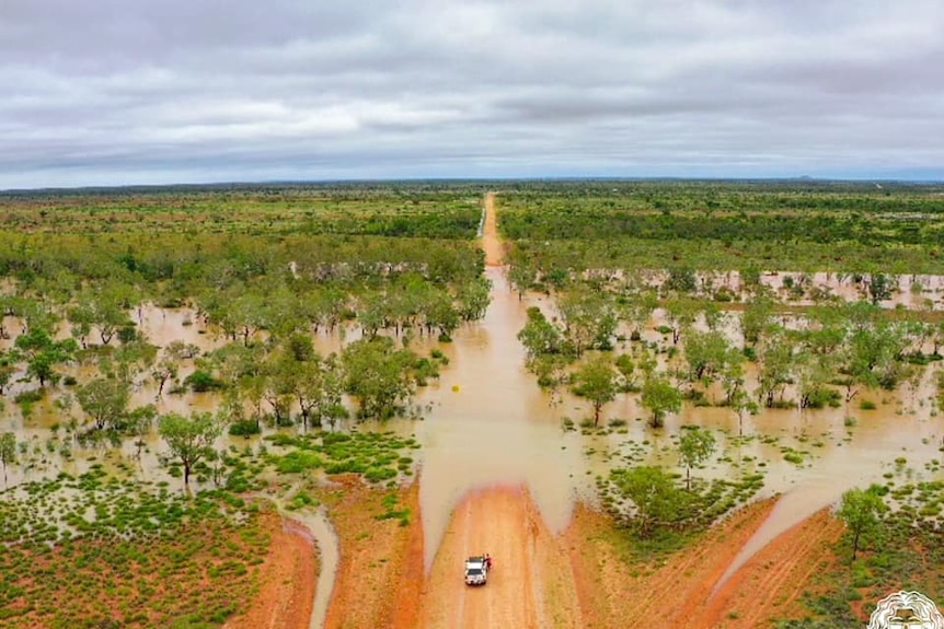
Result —
[[585, 464], [577, 440], [561, 428], [517, 340], [529, 302], [519, 302], [502, 269], [486, 270], [492, 304], [481, 324], [456, 335], [450, 366], [421, 399], [433, 404], [411, 428], [423, 444], [419, 500], [427, 567], [456, 503], [470, 489], [527, 484], [548, 525], [563, 531], [573, 508], [575, 478]]

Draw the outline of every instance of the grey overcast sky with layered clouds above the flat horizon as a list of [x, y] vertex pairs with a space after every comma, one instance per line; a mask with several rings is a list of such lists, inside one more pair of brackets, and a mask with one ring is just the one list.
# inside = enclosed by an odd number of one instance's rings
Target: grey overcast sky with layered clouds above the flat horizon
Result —
[[942, 0], [0, 0], [0, 188], [944, 178]]

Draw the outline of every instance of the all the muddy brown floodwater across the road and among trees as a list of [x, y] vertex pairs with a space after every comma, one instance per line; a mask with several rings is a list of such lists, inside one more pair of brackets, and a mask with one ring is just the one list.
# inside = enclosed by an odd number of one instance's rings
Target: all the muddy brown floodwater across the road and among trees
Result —
[[[631, 452], [633, 445], [642, 453], [635, 461], [676, 466], [674, 436], [687, 423], [717, 431], [719, 456], [727, 458], [722, 462], [716, 457], [704, 469], [695, 470], [695, 475], [723, 477], [738, 471], [759, 471], [764, 475], [764, 496], [783, 494], [738, 562], [785, 528], [834, 503], [845, 489], [885, 482], [883, 475], [888, 473], [900, 476], [901, 470], [896, 469], [894, 463], [896, 458], [907, 459], [905, 467], [911, 470], [913, 479], [942, 477], [933, 462], [944, 458], [944, 453], [939, 451], [944, 426], [930, 401], [933, 395], [930, 377], [925, 377], [914, 394], [864, 394], [876, 401], [878, 408], [860, 410], [854, 400], [848, 411], [856, 418], [853, 427], [844, 423], [845, 408], [806, 412], [764, 410], [744, 419], [744, 433], [755, 435], [744, 443], [733, 439], [738, 433], [737, 418], [723, 408], [687, 406], [678, 416], [668, 418], [664, 429], [654, 431], [643, 420], [645, 412], [640, 408], [637, 396], [618, 398], [605, 408], [601, 423], [622, 418], [626, 420], [624, 428], [606, 434], [564, 431], [562, 420], [571, 418], [579, 422], [589, 417], [589, 405], [566, 393], [552, 396], [541, 391], [534, 376], [525, 369], [523, 349], [516, 338], [525, 324], [528, 306], [539, 305], [552, 312], [553, 305], [541, 295], [519, 300], [500, 267], [490, 267], [486, 275], [493, 282], [493, 301], [484, 321], [458, 330], [451, 343], [440, 346], [429, 338], [418, 338], [412, 346], [423, 352], [439, 347], [450, 358], [440, 381], [421, 389], [417, 396], [419, 404], [428, 406], [424, 419], [365, 426], [415, 434], [423, 445], [419, 496], [427, 536], [427, 567], [452, 508], [470, 489], [496, 482], [523, 484], [549, 527], [560, 532], [569, 521], [575, 500], [592, 501], [595, 479], [606, 476], [614, 465], [625, 464], [629, 459], [620, 456]], [[939, 283], [925, 281], [931, 290], [940, 290]], [[137, 315], [133, 313], [135, 318]], [[7, 324], [16, 329], [15, 321], [8, 319]], [[157, 345], [182, 339], [207, 350], [222, 343], [203, 328], [192, 311], [145, 306], [140, 311], [140, 325]], [[357, 336], [356, 330], [350, 330], [345, 339]], [[652, 330], [646, 331], [646, 337], [659, 339]], [[318, 348], [324, 352], [337, 350], [342, 342], [338, 335], [321, 333], [315, 337]], [[192, 364], [183, 365], [182, 376], [188, 369], [193, 369]], [[154, 393], [153, 386], [145, 383], [136, 389], [134, 403], [156, 401]], [[161, 412], [186, 412], [210, 410], [217, 401], [212, 395], [188, 393], [164, 395], [157, 399], [157, 405]], [[70, 412], [79, 416], [74, 406]], [[92, 463], [117, 469], [123, 462], [148, 480], [168, 479], [158, 461], [163, 446], [153, 434], [145, 440], [147, 447], [140, 459], [136, 458], [137, 449], [129, 443], [119, 450], [82, 449], [72, 443], [71, 456], [62, 461], [57, 447], [49, 445], [49, 438], [51, 427], [66, 421], [64, 411], [51, 400], [38, 404], [26, 420], [20, 416], [16, 405], [4, 406], [0, 430], [15, 430], [18, 438], [28, 443], [33, 461], [28, 468], [10, 468], [11, 485], [55, 475], [60, 468], [79, 474]], [[61, 429], [59, 434], [62, 435]], [[219, 446], [243, 449], [255, 447], [257, 443], [258, 440], [223, 436]], [[804, 462], [801, 465], [786, 462], [784, 447], [803, 452]], [[896, 478], [896, 481], [902, 480]]]

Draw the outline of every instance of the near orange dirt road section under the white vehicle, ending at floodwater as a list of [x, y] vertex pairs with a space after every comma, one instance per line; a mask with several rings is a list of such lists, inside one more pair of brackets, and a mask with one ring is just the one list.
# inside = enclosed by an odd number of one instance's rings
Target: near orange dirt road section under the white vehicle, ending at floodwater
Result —
[[[467, 586], [464, 559], [491, 552], [487, 585]], [[567, 552], [526, 490], [498, 487], [463, 500], [433, 562], [421, 603], [423, 629], [580, 627]]]

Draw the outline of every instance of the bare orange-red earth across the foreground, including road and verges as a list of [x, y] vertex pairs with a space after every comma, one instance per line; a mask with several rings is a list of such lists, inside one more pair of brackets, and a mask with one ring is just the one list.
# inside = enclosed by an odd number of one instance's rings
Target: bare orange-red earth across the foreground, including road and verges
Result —
[[[831, 546], [842, 532], [824, 510], [774, 539], [718, 587], [774, 500], [740, 510], [667, 559], [633, 563], [621, 557], [618, 536], [624, 534], [608, 516], [578, 505], [569, 527], [554, 536], [527, 490], [494, 487], [459, 504], [424, 574], [418, 486], [399, 492], [398, 509], [411, 510], [406, 526], [376, 517], [387, 493], [350, 478], [324, 497], [341, 540], [327, 629], [769, 627], [799, 615], [799, 595], [814, 571], [834, 560]], [[298, 560], [298, 544], [311, 556], [310, 543], [291, 532], [274, 544], [266, 563], [274, 576], [251, 611], [256, 615], [228, 627], [307, 626], [301, 599], [310, 610], [313, 581]], [[467, 586], [464, 558], [486, 551], [495, 557], [488, 584]], [[297, 583], [286, 576], [291, 573]], [[299, 614], [278, 616], [296, 607], [288, 603], [292, 596]]]

